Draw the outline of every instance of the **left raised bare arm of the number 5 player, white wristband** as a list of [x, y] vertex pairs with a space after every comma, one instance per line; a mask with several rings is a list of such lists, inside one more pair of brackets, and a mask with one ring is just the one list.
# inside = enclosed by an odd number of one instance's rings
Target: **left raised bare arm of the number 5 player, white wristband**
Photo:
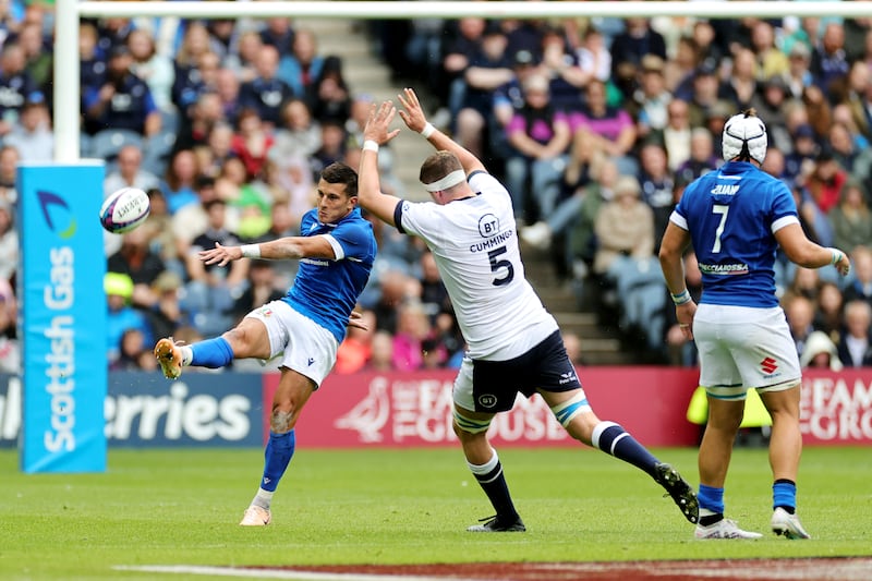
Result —
[[370, 118], [363, 128], [363, 152], [361, 152], [361, 167], [358, 170], [358, 204], [390, 226], [396, 226], [393, 210], [400, 198], [382, 192], [378, 179], [378, 146], [385, 145], [399, 134], [400, 130], [388, 129], [396, 114], [397, 109], [390, 101], [372, 106]]

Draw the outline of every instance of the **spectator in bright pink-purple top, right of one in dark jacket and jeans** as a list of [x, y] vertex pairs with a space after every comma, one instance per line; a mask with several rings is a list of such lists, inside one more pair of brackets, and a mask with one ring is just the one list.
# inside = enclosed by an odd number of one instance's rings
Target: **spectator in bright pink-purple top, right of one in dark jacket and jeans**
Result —
[[625, 109], [607, 105], [606, 85], [601, 81], [588, 83], [584, 95], [582, 110], [569, 116], [572, 148], [593, 143], [596, 150], [615, 158], [621, 173], [634, 174], [639, 165], [631, 155], [637, 138], [632, 118]]

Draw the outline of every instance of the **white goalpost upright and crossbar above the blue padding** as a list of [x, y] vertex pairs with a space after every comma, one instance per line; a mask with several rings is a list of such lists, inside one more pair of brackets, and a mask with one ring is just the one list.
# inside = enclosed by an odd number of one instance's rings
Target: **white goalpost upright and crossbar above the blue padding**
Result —
[[90, 17], [179, 16], [240, 19], [289, 16], [293, 19], [403, 20], [403, 19], [543, 19], [543, 17], [627, 17], [699, 16], [739, 19], [744, 16], [872, 16], [872, 1], [797, 2], [764, 1], [489, 1], [451, 2], [403, 1], [84, 1], [58, 0], [55, 44], [55, 140], [56, 161], [74, 161], [78, 149], [78, 20]]

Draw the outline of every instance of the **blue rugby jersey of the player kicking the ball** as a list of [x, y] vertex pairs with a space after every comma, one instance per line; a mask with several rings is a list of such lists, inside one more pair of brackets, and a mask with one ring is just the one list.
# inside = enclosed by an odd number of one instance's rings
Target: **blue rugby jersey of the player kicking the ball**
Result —
[[337, 223], [320, 223], [317, 208], [308, 210], [300, 222], [300, 235], [318, 234], [331, 237], [341, 249], [341, 255], [337, 251], [334, 261], [301, 258], [293, 286], [282, 301], [329, 330], [341, 343], [348, 317], [373, 269], [375, 235], [373, 226], [363, 219], [359, 208]]

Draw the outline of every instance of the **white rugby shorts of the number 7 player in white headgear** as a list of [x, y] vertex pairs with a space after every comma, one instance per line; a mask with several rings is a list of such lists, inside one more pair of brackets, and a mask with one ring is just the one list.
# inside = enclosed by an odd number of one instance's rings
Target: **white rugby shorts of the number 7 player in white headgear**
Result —
[[748, 389], [778, 391], [802, 377], [796, 343], [779, 306], [701, 304], [693, 317], [700, 385], [713, 397], [744, 399]]

